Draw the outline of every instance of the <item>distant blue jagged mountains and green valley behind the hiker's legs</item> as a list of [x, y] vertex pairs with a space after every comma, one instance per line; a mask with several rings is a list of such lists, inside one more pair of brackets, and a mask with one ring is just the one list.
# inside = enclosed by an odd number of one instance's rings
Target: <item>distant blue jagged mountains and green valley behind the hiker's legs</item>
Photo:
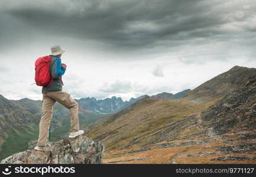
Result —
[[[108, 114], [118, 112], [145, 96], [123, 101], [112, 97], [96, 100], [85, 98], [76, 100], [79, 103], [79, 120], [84, 129], [101, 122]], [[161, 97], [156, 97], [161, 99]], [[8, 100], [0, 95], [0, 159], [13, 152], [25, 150], [35, 145], [38, 138], [38, 124], [41, 118], [41, 100], [21, 99]], [[51, 139], [60, 140], [69, 132], [69, 110], [54, 104], [51, 120]]]

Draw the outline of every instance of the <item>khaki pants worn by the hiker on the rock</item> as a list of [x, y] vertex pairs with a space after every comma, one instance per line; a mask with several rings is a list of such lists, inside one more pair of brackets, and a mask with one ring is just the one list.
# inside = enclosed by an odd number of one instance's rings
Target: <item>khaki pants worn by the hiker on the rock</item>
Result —
[[56, 101], [70, 110], [70, 132], [77, 132], [79, 130], [78, 103], [72, 99], [70, 94], [64, 91], [51, 91], [48, 93], [43, 93], [43, 115], [39, 125], [37, 146], [45, 146], [47, 143], [50, 122], [53, 117], [53, 105], [56, 103]]

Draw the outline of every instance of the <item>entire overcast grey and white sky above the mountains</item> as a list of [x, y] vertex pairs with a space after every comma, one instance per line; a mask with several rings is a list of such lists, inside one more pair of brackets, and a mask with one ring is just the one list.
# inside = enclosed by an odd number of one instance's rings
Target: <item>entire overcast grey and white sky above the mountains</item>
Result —
[[254, 0], [0, 0], [0, 94], [41, 99], [34, 62], [56, 44], [76, 99], [195, 89], [255, 67], [255, 31]]

